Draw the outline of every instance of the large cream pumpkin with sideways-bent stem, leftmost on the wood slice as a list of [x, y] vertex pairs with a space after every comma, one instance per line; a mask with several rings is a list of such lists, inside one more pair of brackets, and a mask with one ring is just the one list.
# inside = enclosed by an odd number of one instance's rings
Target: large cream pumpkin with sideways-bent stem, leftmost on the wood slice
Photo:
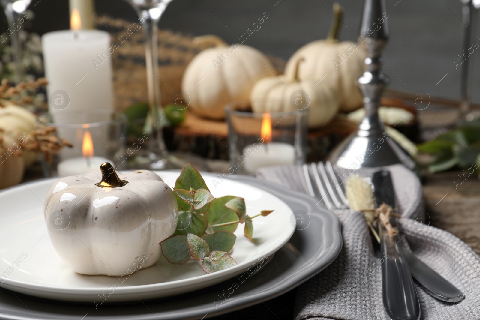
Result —
[[[210, 36], [209, 40], [215, 39]], [[219, 38], [217, 38], [219, 39]], [[224, 119], [226, 104], [248, 102], [257, 80], [275, 75], [270, 60], [259, 50], [246, 45], [228, 46], [221, 39], [192, 59], [183, 74], [185, 100], [195, 114]]]

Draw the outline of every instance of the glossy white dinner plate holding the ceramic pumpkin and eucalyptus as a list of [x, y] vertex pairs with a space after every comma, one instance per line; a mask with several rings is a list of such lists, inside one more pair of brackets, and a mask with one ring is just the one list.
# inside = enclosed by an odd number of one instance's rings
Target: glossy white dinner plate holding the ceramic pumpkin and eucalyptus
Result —
[[[179, 173], [157, 172], [170, 186], [175, 185]], [[98, 304], [160, 298], [249, 273], [287, 243], [295, 231], [295, 219], [282, 200], [246, 183], [223, 180], [208, 173], [202, 176], [215, 197], [245, 198], [249, 215], [275, 210], [266, 217], [253, 219], [252, 242], [243, 236], [243, 225], [239, 225], [231, 253], [238, 265], [207, 274], [200, 261], [191, 259], [182, 265], [173, 265], [162, 257], [153, 266], [126, 279], [75, 273], [53, 248], [45, 226], [43, 202], [48, 188], [57, 180], [51, 178], [0, 192], [0, 286], [32, 296]]]

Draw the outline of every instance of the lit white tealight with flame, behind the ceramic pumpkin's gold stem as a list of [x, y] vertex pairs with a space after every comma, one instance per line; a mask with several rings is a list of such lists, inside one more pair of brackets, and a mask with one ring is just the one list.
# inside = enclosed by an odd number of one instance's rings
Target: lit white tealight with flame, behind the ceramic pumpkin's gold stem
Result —
[[83, 157], [60, 161], [57, 166], [58, 175], [60, 177], [81, 175], [93, 169], [98, 169], [104, 162], [112, 163], [112, 161], [107, 158], [94, 156], [92, 136], [88, 131], [84, 133], [82, 154]]

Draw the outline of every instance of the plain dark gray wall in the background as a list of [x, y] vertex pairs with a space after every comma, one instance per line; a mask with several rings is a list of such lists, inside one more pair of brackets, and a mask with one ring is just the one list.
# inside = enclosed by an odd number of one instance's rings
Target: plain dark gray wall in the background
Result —
[[[216, 34], [235, 42], [266, 12], [269, 17], [245, 44], [288, 59], [309, 41], [324, 38], [331, 23], [333, 0], [175, 0], [160, 22], [187, 34]], [[355, 40], [363, 6], [361, 0], [338, 0], [345, 8], [342, 40]], [[35, 5], [35, 7], [34, 7]], [[463, 23], [459, 0], [386, 0], [391, 39], [384, 50], [384, 71], [391, 87], [416, 93], [458, 98], [460, 68], [454, 60], [462, 51]], [[33, 0], [36, 13], [31, 31], [68, 28], [67, 0]], [[135, 20], [123, 0], [97, 0], [98, 15]], [[480, 36], [479, 36], [480, 38]], [[480, 44], [480, 39], [477, 43]], [[479, 52], [477, 52], [479, 51]], [[480, 49], [474, 62], [472, 100], [480, 102]], [[444, 75], [447, 74], [445, 77]], [[444, 79], [440, 81], [440, 79]], [[438, 83], [438, 84], [436, 84]]]

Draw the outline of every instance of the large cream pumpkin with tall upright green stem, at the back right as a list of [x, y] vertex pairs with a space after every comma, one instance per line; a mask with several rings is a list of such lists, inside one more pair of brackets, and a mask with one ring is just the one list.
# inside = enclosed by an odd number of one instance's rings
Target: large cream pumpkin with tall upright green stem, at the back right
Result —
[[329, 36], [325, 40], [313, 41], [298, 49], [288, 59], [285, 73], [295, 69], [300, 57], [305, 59], [299, 70], [299, 78], [335, 83], [338, 88], [340, 111], [353, 111], [363, 105], [358, 78], [365, 70], [366, 51], [355, 42], [339, 42], [337, 34], [342, 9], [334, 4], [334, 22]]

